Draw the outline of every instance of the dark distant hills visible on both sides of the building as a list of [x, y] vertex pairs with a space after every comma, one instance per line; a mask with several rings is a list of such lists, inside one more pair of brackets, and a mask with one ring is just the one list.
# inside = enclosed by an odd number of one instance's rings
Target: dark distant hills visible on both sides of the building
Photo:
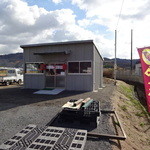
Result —
[[[139, 59], [133, 60], [133, 66], [139, 62]], [[117, 58], [117, 66], [121, 68], [130, 68], [131, 61], [129, 59]], [[14, 53], [7, 55], [0, 55], [0, 67], [22, 67], [23, 53]], [[104, 58], [104, 68], [113, 68], [114, 59]]]

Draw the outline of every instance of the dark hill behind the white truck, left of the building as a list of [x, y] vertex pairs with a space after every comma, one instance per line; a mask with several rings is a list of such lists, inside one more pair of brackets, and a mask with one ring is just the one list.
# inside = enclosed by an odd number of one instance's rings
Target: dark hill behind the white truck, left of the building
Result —
[[0, 55], [0, 67], [23, 67], [23, 53]]

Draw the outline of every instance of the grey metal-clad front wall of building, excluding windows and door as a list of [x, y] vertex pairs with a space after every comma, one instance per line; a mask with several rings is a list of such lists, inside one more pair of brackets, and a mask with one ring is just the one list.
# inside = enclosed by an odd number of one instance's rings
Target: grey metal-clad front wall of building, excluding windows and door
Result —
[[[71, 51], [70, 54], [34, 55], [49, 51]], [[91, 61], [93, 64], [93, 43], [51, 45], [41, 47], [24, 48], [24, 62], [68, 62], [68, 61]], [[94, 72], [92, 68], [92, 72]], [[45, 86], [44, 75], [25, 74], [25, 88], [42, 89]], [[77, 75], [66, 74], [66, 90], [92, 91], [93, 74]]]

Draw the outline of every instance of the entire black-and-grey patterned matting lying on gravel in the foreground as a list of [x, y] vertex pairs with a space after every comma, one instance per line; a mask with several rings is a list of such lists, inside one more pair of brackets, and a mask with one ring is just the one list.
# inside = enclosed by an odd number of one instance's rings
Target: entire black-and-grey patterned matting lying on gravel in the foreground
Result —
[[83, 150], [86, 130], [28, 125], [0, 145], [0, 150]]

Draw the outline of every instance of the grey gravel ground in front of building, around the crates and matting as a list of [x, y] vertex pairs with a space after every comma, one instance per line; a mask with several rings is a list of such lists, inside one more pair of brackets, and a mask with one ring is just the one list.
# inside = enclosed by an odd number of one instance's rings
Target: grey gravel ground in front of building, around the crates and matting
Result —
[[[28, 124], [47, 125], [61, 111], [61, 106], [70, 99], [91, 97], [100, 101], [101, 109], [111, 109], [113, 85], [107, 84], [98, 92], [65, 91], [55, 96], [34, 95], [35, 90], [20, 86], [0, 86], [0, 144], [11, 138]], [[109, 115], [101, 115], [100, 125], [92, 132], [113, 133]], [[61, 126], [61, 125], [60, 125]], [[85, 127], [86, 128], [86, 127]], [[88, 138], [84, 150], [111, 150], [111, 142]]]

